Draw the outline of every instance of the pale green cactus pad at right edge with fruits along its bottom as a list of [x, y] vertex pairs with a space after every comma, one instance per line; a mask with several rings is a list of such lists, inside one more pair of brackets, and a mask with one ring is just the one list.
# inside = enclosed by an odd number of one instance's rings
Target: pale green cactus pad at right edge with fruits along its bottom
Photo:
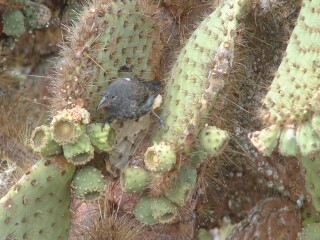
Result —
[[[320, 49], [315, 45], [320, 42], [317, 24], [320, 12], [314, 11], [319, 7], [317, 0], [303, 1], [285, 57], [264, 99], [267, 110], [261, 111], [265, 124], [271, 127], [279, 125], [280, 131], [285, 131], [281, 133], [282, 140], [278, 146], [278, 151], [284, 156], [305, 157], [320, 153], [317, 124], [320, 113]], [[269, 142], [275, 138], [273, 134], [272, 131], [262, 130], [249, 134], [249, 138], [263, 155], [269, 156], [277, 147], [277, 144], [270, 145]], [[284, 134], [288, 138], [284, 139]]]

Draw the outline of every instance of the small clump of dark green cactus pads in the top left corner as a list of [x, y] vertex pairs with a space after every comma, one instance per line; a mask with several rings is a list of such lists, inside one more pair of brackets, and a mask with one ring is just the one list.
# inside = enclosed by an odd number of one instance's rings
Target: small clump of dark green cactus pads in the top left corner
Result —
[[43, 27], [51, 18], [50, 9], [41, 3], [29, 0], [12, 2], [15, 3], [18, 7], [8, 7], [3, 14], [3, 32], [8, 36], [18, 37], [29, 29]]

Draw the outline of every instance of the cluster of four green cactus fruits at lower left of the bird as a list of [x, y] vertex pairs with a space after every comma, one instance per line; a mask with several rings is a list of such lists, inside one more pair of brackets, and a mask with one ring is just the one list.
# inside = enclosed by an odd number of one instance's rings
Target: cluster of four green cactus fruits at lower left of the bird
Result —
[[114, 147], [115, 133], [109, 125], [89, 124], [90, 114], [77, 106], [58, 112], [50, 126], [42, 125], [33, 131], [31, 145], [43, 156], [63, 152], [74, 165], [93, 159], [94, 150], [109, 151]]

